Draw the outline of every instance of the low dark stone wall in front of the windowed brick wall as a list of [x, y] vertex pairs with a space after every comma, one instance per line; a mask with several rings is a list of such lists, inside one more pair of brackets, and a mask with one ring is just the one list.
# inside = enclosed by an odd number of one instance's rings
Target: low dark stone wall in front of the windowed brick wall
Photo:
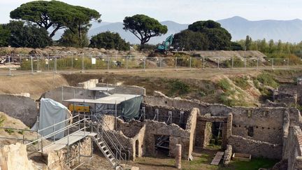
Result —
[[246, 139], [242, 136], [231, 135], [229, 145], [233, 147], [233, 153], [247, 153], [252, 157], [267, 157], [271, 159], [282, 159], [282, 145], [263, 141]]

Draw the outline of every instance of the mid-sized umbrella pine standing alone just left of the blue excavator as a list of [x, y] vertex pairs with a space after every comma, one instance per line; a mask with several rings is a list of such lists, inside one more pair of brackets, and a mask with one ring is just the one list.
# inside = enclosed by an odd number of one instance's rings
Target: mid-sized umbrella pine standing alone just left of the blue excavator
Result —
[[168, 27], [147, 15], [134, 15], [124, 18], [124, 30], [130, 31], [140, 41], [141, 45], [148, 43], [150, 38], [166, 34]]

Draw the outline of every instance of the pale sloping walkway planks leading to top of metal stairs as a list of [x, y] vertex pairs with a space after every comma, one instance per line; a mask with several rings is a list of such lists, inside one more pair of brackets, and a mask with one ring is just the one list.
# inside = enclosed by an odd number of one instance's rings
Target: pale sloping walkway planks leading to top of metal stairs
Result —
[[[95, 133], [93, 133], [95, 136]], [[50, 144], [49, 146], [43, 147], [43, 153], [49, 153], [52, 150], [60, 150], [64, 148], [67, 145], [71, 145], [77, 141], [80, 141], [81, 139], [85, 138], [88, 135], [93, 135], [91, 132], [74, 132], [73, 134], [69, 134], [68, 136], [65, 136], [62, 139], [59, 139], [59, 141], [55, 141], [55, 143]], [[39, 150], [39, 152], [42, 152]]]

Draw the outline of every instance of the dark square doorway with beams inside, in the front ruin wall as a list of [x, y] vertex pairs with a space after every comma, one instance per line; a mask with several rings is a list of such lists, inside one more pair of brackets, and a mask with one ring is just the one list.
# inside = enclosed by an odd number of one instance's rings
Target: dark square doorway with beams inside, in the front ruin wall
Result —
[[154, 135], [154, 149], [158, 156], [169, 156], [170, 136]]

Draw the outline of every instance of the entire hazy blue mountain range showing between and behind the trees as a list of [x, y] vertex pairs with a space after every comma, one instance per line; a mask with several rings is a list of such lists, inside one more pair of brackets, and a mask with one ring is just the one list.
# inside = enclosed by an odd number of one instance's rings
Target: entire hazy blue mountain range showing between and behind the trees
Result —
[[[274, 41], [281, 40], [283, 42], [299, 43], [302, 41], [302, 20], [259, 20], [250, 21], [243, 17], [230, 17], [224, 20], [217, 20], [222, 27], [227, 29], [232, 36], [232, 41], [245, 39], [247, 35], [253, 40], [273, 39]], [[150, 39], [151, 44], [161, 43], [171, 34], [176, 34], [184, 29], [187, 29], [189, 24], [179, 24], [173, 21], [161, 22], [168, 27], [167, 34]], [[92, 27], [89, 29], [88, 36], [94, 36], [103, 31], [113, 31], [120, 34], [122, 38], [130, 43], [140, 43], [138, 38], [129, 31], [124, 31], [122, 22], [92, 22]], [[59, 39], [63, 30], [60, 30], [55, 35], [54, 39]]]

